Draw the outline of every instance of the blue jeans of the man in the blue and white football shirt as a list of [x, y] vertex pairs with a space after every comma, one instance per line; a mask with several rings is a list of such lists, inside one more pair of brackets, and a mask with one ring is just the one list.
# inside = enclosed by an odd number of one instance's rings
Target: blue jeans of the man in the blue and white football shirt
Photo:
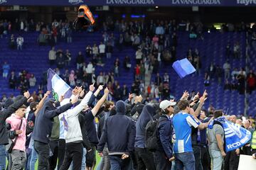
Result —
[[176, 170], [196, 170], [195, 157], [193, 152], [175, 154]]

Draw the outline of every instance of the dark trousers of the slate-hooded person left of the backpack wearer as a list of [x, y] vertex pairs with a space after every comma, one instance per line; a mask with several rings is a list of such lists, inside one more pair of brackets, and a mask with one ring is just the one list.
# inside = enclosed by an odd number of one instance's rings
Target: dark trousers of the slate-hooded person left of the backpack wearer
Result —
[[137, 157], [137, 170], [156, 170], [154, 155], [145, 148], [135, 148]]

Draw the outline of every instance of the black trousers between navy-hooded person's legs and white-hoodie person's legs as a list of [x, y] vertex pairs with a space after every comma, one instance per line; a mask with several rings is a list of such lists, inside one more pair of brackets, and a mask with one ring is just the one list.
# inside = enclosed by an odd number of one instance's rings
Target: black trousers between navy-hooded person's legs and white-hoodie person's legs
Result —
[[52, 153], [49, 157], [49, 169], [54, 170], [58, 160], [58, 140], [51, 140], [49, 142], [50, 152]]

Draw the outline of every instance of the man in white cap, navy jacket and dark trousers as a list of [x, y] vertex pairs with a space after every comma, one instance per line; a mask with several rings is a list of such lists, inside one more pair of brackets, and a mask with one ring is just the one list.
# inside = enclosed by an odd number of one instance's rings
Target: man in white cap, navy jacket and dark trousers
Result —
[[173, 144], [171, 142], [173, 135], [172, 120], [174, 114], [174, 106], [176, 102], [161, 101], [161, 115], [159, 125], [157, 126], [158, 144], [154, 154], [156, 160], [156, 170], [171, 169], [171, 162], [174, 161]]

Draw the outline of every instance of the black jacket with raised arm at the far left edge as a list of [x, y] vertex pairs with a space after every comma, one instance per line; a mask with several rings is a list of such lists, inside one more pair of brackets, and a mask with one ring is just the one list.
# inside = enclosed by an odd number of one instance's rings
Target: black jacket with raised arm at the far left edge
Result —
[[8, 118], [12, 113], [14, 113], [18, 108], [20, 108], [23, 104], [26, 104], [27, 98], [22, 97], [17, 100], [15, 103], [11, 104], [11, 106], [5, 108], [0, 112], [0, 145], [7, 145], [8, 136], [6, 131], [6, 118]]

